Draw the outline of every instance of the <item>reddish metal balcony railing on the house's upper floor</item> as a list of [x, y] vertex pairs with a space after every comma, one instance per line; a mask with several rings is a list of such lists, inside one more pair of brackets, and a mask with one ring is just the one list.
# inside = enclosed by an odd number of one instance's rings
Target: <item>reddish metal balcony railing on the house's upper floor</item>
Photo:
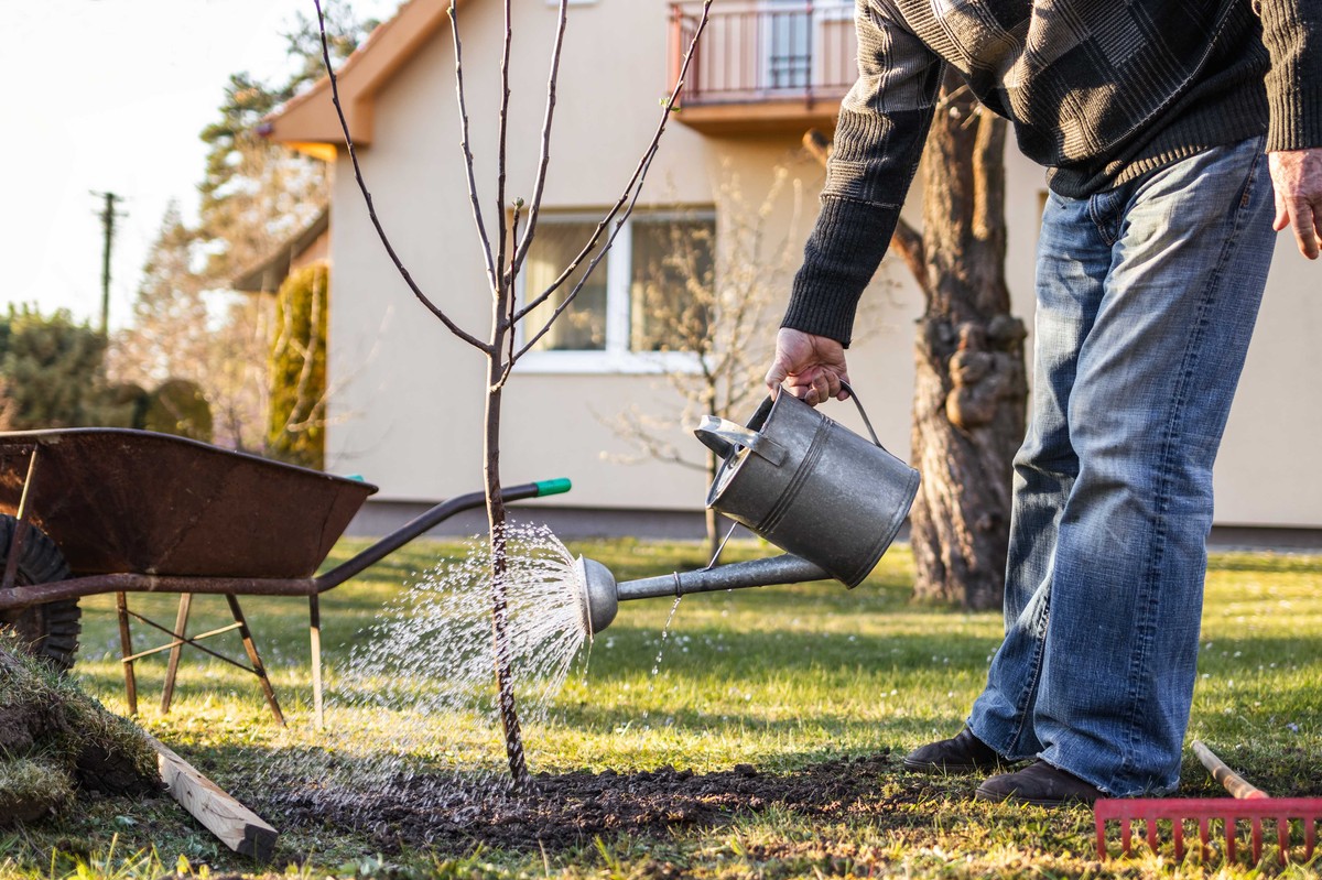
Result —
[[[670, 82], [701, 16], [670, 4]], [[838, 102], [858, 75], [851, 0], [718, 0], [694, 52], [682, 106]]]

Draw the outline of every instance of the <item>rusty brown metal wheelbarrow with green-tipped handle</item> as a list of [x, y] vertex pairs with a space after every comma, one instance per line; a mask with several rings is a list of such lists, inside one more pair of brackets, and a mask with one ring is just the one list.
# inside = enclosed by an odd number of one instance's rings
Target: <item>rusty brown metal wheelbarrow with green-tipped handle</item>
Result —
[[[509, 501], [568, 492], [568, 480], [504, 489]], [[284, 723], [239, 596], [308, 600], [312, 691], [323, 723], [320, 596], [444, 519], [485, 502], [449, 498], [352, 559], [317, 575], [349, 521], [377, 486], [361, 480], [127, 428], [0, 432], [0, 622], [58, 669], [73, 665], [83, 596], [115, 593], [124, 688], [137, 711], [134, 662], [169, 650], [161, 711], [168, 711], [188, 645], [256, 675]], [[173, 628], [128, 608], [127, 593], [178, 593]], [[225, 596], [234, 624], [189, 637], [192, 596]], [[134, 653], [131, 618], [171, 636]], [[251, 666], [201, 640], [238, 630]]]

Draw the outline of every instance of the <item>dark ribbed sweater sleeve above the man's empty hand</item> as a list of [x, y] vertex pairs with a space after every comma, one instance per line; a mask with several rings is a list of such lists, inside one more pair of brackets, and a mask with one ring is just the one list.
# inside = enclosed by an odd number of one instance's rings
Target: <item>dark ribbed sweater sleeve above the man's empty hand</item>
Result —
[[1266, 74], [1266, 149], [1322, 147], [1322, 3], [1261, 0]]

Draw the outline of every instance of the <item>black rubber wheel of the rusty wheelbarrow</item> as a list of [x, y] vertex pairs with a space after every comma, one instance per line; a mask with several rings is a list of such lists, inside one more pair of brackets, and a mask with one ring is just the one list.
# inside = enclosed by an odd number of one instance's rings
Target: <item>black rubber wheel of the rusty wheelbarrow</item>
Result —
[[[0, 572], [9, 560], [19, 521], [0, 514]], [[50, 536], [28, 523], [22, 540], [22, 555], [15, 576], [16, 587], [33, 587], [66, 580], [69, 563]], [[29, 605], [20, 610], [0, 612], [0, 625], [19, 634], [22, 645], [53, 669], [69, 671], [78, 653], [78, 633], [82, 632], [82, 610], [77, 599], [65, 599], [44, 605]]]

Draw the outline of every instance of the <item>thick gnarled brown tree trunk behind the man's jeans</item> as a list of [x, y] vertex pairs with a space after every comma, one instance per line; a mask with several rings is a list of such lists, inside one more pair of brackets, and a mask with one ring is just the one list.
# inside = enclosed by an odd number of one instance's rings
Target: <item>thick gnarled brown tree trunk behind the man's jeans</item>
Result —
[[[1027, 399], [1025, 329], [1010, 314], [1005, 284], [1005, 120], [980, 108], [954, 74], [941, 89], [921, 170], [927, 307], [915, 342], [912, 457], [923, 472], [911, 514], [915, 595], [999, 608]], [[903, 233], [896, 242], [912, 267]]]

